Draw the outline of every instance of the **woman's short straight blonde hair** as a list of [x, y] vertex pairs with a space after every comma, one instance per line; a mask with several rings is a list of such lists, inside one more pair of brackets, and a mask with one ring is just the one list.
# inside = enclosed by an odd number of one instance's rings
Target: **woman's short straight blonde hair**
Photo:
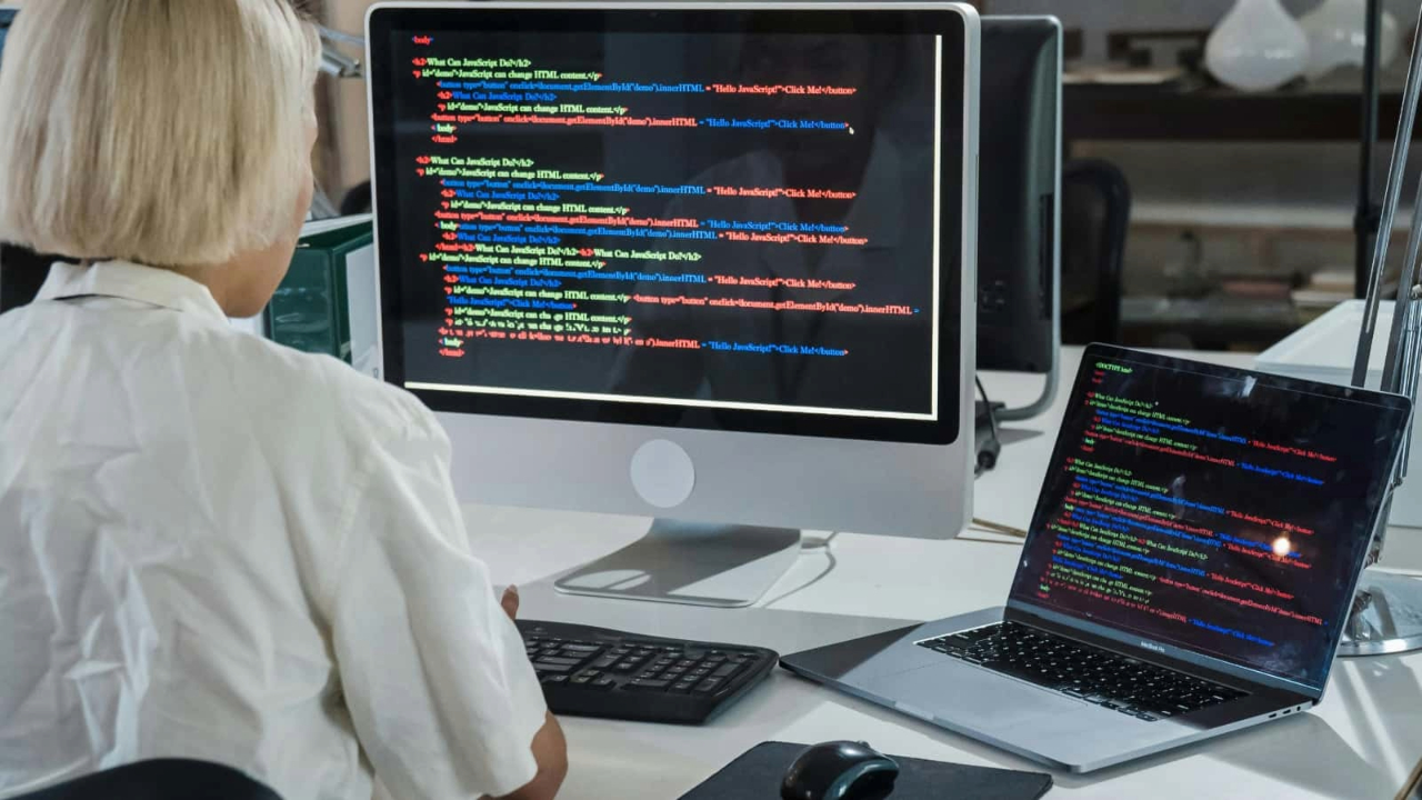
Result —
[[0, 241], [225, 262], [274, 243], [309, 179], [320, 38], [289, 0], [40, 0], [0, 68]]

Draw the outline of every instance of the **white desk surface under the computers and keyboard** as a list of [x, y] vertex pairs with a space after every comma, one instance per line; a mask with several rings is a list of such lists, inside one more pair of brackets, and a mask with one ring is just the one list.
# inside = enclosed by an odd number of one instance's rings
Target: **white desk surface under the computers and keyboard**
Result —
[[[1210, 354], [1249, 366], [1251, 356]], [[1081, 349], [1068, 349], [1074, 376]], [[1021, 403], [1031, 376], [988, 376], [994, 399]], [[1069, 380], [1068, 380], [1069, 387]], [[1001, 465], [977, 484], [977, 515], [1025, 528], [1047, 471], [1065, 393], [1042, 417], [1008, 430]], [[1052, 431], [1052, 433], [1048, 433]], [[637, 537], [646, 520], [468, 507], [476, 551], [498, 581], [522, 586], [523, 615], [764, 645], [781, 652], [867, 635], [1007, 598], [1020, 547], [970, 531], [956, 541], [842, 534], [838, 565], [806, 552], [757, 608], [724, 611], [559, 595], [550, 578]], [[1419, 531], [1394, 531], [1389, 562], [1422, 567]], [[1007, 542], [1007, 544], [1004, 544]], [[825, 574], [818, 582], [812, 581]], [[803, 589], [786, 595], [799, 586]], [[565, 719], [570, 750], [566, 800], [678, 797], [754, 744], [779, 739], [863, 739], [904, 756], [1041, 770], [784, 670], [705, 727]], [[1313, 713], [1089, 776], [1057, 774], [1049, 797], [1391, 799], [1422, 757], [1422, 655], [1342, 660]]]

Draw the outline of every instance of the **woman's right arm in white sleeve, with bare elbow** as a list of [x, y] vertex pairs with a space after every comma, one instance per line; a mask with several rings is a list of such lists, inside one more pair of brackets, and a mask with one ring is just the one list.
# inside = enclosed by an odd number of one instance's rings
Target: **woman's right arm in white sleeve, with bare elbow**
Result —
[[336, 584], [346, 707], [392, 797], [545, 800], [566, 772], [562, 732], [469, 551], [448, 438], [422, 407], [410, 416], [363, 448], [338, 554], [317, 565]]

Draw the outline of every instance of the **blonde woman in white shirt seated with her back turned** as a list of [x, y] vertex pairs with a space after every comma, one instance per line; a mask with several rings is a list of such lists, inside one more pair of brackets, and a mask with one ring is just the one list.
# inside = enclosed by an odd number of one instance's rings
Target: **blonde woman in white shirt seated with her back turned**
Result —
[[290, 800], [552, 797], [566, 757], [411, 396], [232, 330], [311, 199], [286, 0], [44, 0], [0, 68], [0, 796], [182, 756]]

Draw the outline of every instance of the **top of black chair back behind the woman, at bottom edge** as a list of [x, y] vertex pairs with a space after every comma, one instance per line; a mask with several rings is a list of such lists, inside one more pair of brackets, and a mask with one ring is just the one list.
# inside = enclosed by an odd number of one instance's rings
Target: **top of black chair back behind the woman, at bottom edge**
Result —
[[14, 800], [282, 800], [240, 772], [161, 759], [104, 770]]

